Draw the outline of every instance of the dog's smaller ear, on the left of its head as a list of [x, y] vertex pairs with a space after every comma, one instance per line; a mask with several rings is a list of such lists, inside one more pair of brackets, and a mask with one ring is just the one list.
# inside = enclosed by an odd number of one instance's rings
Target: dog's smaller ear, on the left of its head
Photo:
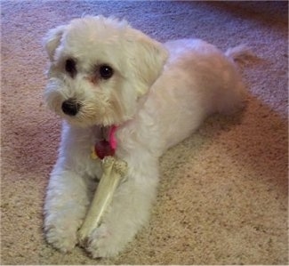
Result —
[[44, 36], [44, 47], [51, 61], [54, 58], [56, 48], [60, 45], [61, 37], [66, 28], [67, 26], [64, 25], [52, 28], [48, 31], [46, 36]]

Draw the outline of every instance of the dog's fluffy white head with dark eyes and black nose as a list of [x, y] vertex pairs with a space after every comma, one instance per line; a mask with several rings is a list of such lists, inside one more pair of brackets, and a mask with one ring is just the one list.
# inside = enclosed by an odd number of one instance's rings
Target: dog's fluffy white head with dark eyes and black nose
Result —
[[120, 125], [159, 77], [164, 46], [124, 20], [84, 17], [50, 30], [48, 106], [72, 125]]

